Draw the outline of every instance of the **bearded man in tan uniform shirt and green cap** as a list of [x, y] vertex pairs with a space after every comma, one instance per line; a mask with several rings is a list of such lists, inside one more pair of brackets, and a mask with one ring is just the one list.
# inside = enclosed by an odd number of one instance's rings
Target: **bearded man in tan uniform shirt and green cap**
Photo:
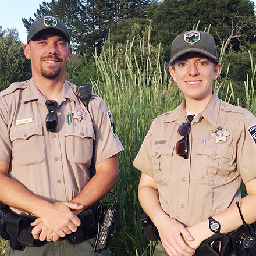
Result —
[[[69, 42], [58, 19], [35, 21], [24, 45], [32, 79], [0, 93], [0, 201], [19, 214], [37, 216], [33, 237], [49, 242], [24, 251], [8, 244], [6, 255], [99, 255], [95, 239], [72, 244], [59, 238], [75, 232], [77, 215], [115, 185], [123, 147], [104, 101], [93, 94], [88, 112], [76, 86], [65, 80]], [[95, 138], [96, 173], [90, 179]]]

